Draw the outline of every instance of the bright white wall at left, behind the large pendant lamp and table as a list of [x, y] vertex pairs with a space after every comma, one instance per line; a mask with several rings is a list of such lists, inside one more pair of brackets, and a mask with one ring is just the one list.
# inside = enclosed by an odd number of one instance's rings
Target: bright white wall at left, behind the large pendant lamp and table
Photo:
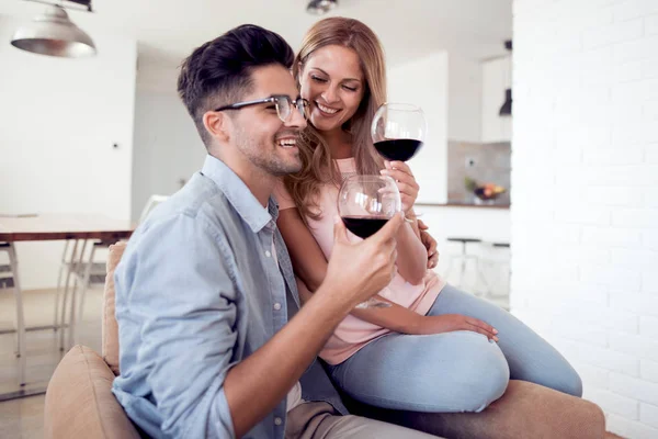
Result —
[[[19, 24], [0, 16], [0, 213], [128, 218], [135, 41], [86, 29], [98, 56], [61, 59], [11, 46]], [[23, 288], [54, 286], [63, 244], [16, 248]]]

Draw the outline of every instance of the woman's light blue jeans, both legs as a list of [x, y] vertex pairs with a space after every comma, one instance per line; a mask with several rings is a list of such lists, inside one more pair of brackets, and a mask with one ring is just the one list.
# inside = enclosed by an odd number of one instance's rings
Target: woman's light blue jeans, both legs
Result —
[[480, 412], [523, 380], [575, 396], [580, 376], [546, 340], [504, 309], [446, 285], [427, 315], [463, 314], [498, 329], [498, 344], [474, 331], [392, 333], [329, 367], [350, 396], [383, 408]]

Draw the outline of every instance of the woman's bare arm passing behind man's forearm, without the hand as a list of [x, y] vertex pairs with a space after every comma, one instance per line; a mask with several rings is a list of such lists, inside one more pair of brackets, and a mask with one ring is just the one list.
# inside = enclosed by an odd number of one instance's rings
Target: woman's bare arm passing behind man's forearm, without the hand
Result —
[[[299, 211], [295, 207], [280, 211], [276, 225], [291, 255], [295, 273], [311, 293], [315, 292], [327, 274], [327, 259], [320, 246], [302, 221]], [[304, 297], [305, 294], [300, 293], [300, 296]], [[392, 306], [386, 308], [354, 308], [350, 314], [396, 333], [418, 334], [423, 316], [379, 295], [377, 295], [377, 299], [392, 303]]]

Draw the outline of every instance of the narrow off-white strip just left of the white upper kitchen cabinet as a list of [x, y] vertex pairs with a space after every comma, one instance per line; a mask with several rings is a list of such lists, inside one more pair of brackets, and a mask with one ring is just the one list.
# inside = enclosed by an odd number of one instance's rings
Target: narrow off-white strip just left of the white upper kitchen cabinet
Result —
[[478, 143], [481, 140], [483, 66], [451, 53], [447, 72], [447, 138]]

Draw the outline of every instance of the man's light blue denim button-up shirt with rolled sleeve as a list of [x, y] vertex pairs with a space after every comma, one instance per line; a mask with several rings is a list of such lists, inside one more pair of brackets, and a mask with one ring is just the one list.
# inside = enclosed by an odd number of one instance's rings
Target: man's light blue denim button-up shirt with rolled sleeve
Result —
[[[298, 309], [277, 214], [274, 199], [265, 210], [207, 156], [131, 238], [114, 277], [121, 376], [113, 392], [147, 435], [235, 437], [226, 374]], [[347, 413], [318, 362], [300, 381], [304, 399]], [[284, 398], [245, 437], [283, 438], [285, 415]]]

